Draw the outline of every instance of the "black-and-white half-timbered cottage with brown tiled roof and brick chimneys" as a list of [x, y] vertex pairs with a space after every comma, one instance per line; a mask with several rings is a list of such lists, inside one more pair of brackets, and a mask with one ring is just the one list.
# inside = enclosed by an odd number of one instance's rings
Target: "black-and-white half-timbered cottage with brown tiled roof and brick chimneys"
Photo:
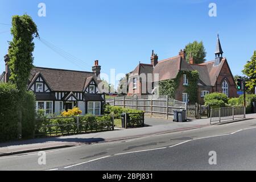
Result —
[[[6, 55], [6, 71], [0, 76], [2, 82], [9, 81], [8, 61]], [[27, 89], [35, 93], [36, 110], [43, 109], [46, 114], [60, 114], [76, 106], [82, 114], [100, 115], [105, 101], [99, 86], [100, 71], [98, 61], [92, 72], [34, 67]]]

